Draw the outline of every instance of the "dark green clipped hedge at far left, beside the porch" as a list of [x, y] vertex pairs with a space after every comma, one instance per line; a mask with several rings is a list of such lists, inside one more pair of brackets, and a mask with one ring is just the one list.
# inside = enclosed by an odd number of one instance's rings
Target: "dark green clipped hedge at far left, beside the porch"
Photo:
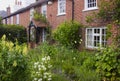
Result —
[[18, 43], [26, 43], [27, 42], [27, 33], [23, 26], [18, 25], [0, 25], [0, 38], [3, 35], [7, 36], [7, 39]]

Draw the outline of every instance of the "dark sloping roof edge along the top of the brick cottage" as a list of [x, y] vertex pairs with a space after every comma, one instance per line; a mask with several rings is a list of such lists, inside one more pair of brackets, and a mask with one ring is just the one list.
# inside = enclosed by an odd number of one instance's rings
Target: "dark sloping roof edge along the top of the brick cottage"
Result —
[[8, 18], [8, 17], [13, 16], [13, 15], [16, 15], [16, 14], [19, 14], [19, 13], [22, 13], [22, 12], [25, 12], [25, 11], [29, 10], [30, 8], [37, 7], [40, 4], [45, 3], [47, 1], [49, 1], [49, 0], [38, 0], [37, 2], [30, 4], [29, 6], [27, 6], [25, 8], [21, 8], [21, 9], [17, 10], [16, 12], [14, 12], [10, 15], [3, 17], [3, 19]]

